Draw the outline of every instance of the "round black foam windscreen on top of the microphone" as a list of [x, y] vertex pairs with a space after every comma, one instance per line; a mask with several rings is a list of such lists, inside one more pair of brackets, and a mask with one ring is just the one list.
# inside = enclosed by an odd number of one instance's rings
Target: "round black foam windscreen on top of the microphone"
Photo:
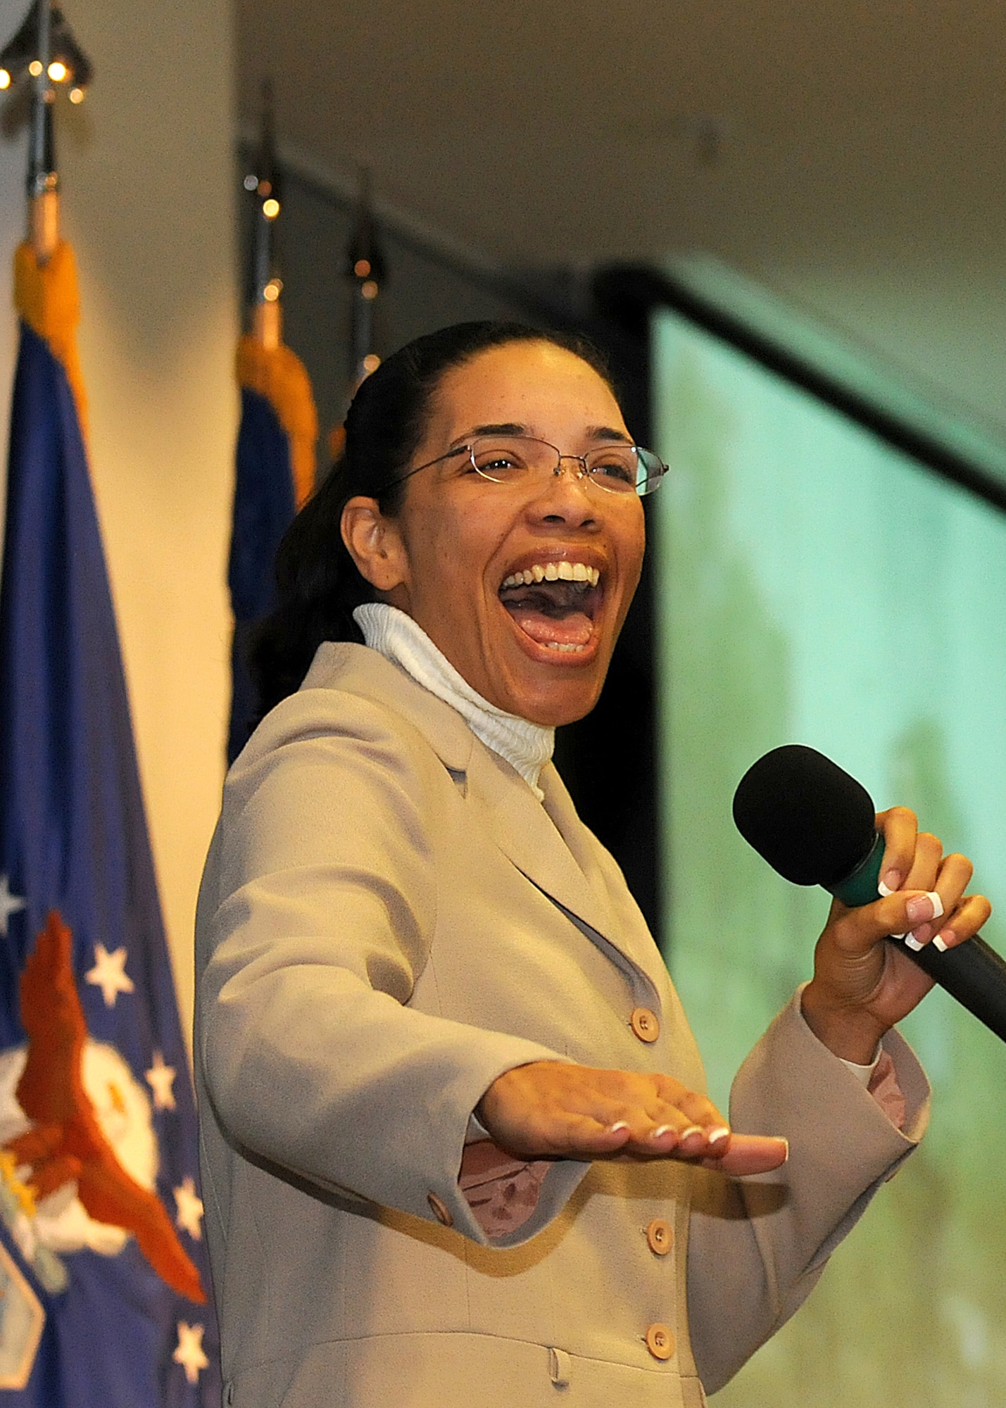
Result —
[[803, 743], [774, 748], [752, 763], [734, 794], [734, 822], [786, 880], [826, 890], [855, 870], [876, 836], [862, 783]]

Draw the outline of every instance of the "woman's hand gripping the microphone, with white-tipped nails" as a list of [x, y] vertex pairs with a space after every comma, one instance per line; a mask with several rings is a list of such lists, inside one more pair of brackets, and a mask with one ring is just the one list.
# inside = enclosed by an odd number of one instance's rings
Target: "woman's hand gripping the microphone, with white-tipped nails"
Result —
[[814, 977], [803, 990], [803, 1017], [836, 1056], [869, 1064], [883, 1033], [916, 1007], [933, 979], [893, 943], [954, 948], [978, 934], [992, 912], [985, 895], [965, 895], [972, 865], [944, 856], [937, 836], [917, 829], [914, 812], [892, 807], [876, 817], [886, 842], [883, 898], [848, 910], [836, 900], [814, 950]]

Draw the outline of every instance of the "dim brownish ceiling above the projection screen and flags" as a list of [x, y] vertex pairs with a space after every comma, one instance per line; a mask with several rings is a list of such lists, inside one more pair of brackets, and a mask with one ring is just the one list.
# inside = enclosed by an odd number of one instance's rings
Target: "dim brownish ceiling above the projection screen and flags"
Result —
[[272, 76], [285, 142], [337, 173], [369, 161], [386, 200], [486, 256], [706, 249], [1006, 420], [996, 0], [237, 0], [237, 14], [244, 118]]

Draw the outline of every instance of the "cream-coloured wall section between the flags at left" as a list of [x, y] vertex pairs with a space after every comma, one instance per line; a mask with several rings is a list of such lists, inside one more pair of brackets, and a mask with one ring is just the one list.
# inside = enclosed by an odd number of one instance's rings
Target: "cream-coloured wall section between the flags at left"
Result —
[[[25, 8], [25, 0], [0, 0], [4, 41]], [[230, 639], [231, 11], [227, 0], [69, 0], [66, 14], [96, 69], [80, 108], [61, 101], [56, 130], [63, 228], [80, 269], [92, 477], [187, 1031], [196, 888], [223, 779]], [[23, 148], [0, 145], [7, 307]], [[13, 353], [13, 317], [1, 317], [4, 413]]]

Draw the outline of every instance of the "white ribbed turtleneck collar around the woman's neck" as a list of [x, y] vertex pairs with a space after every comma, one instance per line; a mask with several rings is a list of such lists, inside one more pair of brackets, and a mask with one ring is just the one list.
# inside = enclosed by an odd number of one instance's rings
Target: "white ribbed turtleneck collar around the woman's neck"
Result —
[[507, 714], [472, 689], [410, 615], [385, 601], [366, 601], [352, 618], [372, 650], [399, 665], [424, 689], [455, 708], [486, 748], [520, 773], [538, 801], [538, 774], [552, 756], [555, 729]]

